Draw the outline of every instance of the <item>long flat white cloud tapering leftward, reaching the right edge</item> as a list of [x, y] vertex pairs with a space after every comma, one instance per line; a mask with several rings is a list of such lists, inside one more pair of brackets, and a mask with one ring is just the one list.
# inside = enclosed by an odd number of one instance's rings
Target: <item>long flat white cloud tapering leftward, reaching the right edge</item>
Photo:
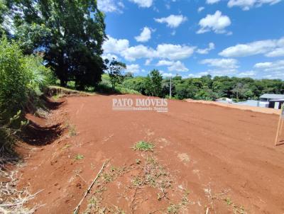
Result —
[[219, 52], [223, 57], [247, 57], [264, 54], [266, 57], [284, 56], [284, 38], [279, 40], [259, 40], [253, 43], [238, 44]]

